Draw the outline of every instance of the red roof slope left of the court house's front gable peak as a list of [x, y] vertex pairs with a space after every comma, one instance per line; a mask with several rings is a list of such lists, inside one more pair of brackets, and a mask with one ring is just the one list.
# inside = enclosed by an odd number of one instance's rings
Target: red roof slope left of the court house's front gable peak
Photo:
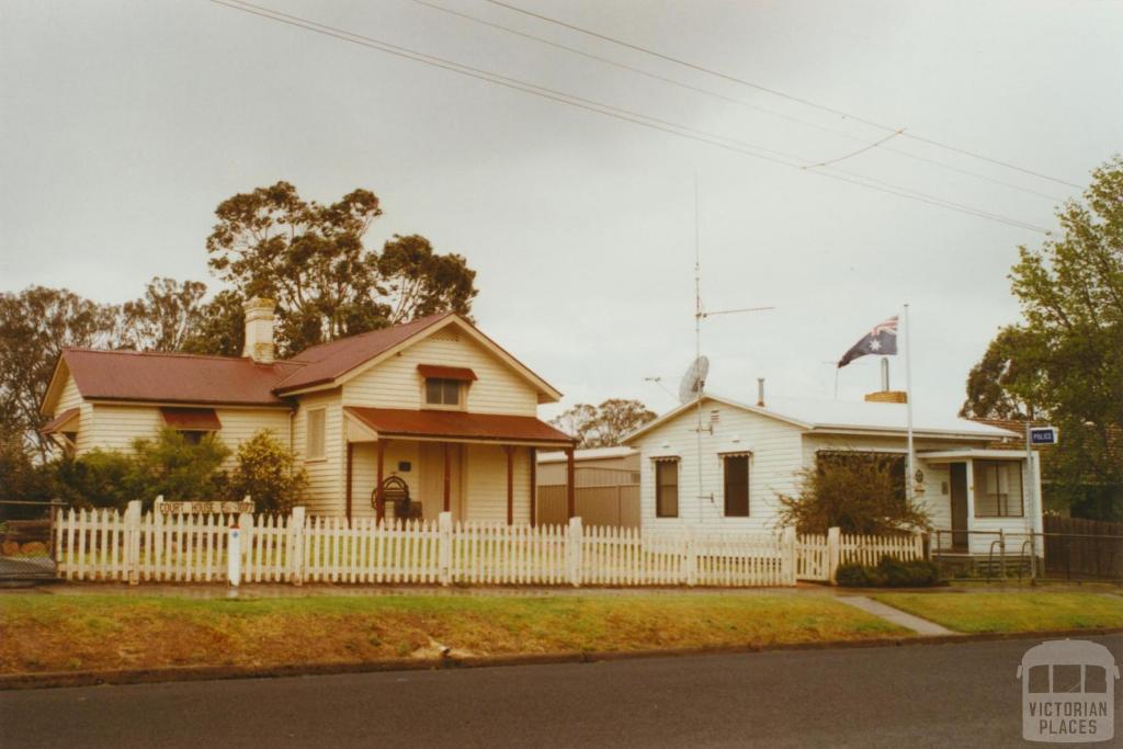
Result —
[[430, 314], [393, 328], [372, 330], [305, 348], [291, 359], [286, 359], [301, 366], [277, 383], [276, 390], [283, 393], [331, 382], [450, 314], [453, 313]]

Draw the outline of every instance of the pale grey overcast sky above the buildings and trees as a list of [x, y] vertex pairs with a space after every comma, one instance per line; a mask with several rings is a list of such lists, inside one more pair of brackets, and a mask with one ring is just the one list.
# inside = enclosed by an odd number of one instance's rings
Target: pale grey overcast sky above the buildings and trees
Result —
[[[259, 4], [802, 164], [887, 135], [484, 0], [429, 1], [724, 99], [413, 0]], [[883, 146], [836, 167], [1020, 222], [1054, 228], [1054, 198], [1079, 190], [907, 135], [1081, 185], [1123, 149], [1119, 2], [510, 1], [906, 128], [884, 146], [939, 164]], [[953, 411], [971, 364], [1017, 319], [1017, 246], [1042, 238], [206, 0], [0, 9], [6, 291], [120, 302], [155, 275], [213, 290], [204, 239], [222, 199], [277, 180], [321, 202], [367, 188], [385, 211], [372, 246], [419, 232], [465, 255], [480, 326], [563, 405], [640, 398], [664, 411], [675, 400], [645, 377], [675, 391], [693, 357], [697, 174], [705, 305], [777, 308], [704, 322], [710, 390], [751, 399], [764, 376], [772, 394], [830, 399], [831, 362], [910, 302], [914, 399]], [[903, 373], [894, 362], [894, 385]], [[840, 398], [877, 384], [865, 357], [842, 369]]]

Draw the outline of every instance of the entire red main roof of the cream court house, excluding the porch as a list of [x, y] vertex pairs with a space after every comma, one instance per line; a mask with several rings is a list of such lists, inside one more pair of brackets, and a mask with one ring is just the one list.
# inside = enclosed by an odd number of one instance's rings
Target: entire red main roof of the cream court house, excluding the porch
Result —
[[[228, 405], [283, 405], [284, 396], [331, 386], [382, 356], [392, 355], [447, 325], [458, 325], [533, 383], [539, 401], [562, 394], [502, 347], [453, 312], [311, 346], [292, 358], [263, 364], [248, 357], [67, 348], [43, 399], [44, 411], [61, 394], [66, 373], [85, 399]], [[46, 411], [45, 411], [46, 412]]]

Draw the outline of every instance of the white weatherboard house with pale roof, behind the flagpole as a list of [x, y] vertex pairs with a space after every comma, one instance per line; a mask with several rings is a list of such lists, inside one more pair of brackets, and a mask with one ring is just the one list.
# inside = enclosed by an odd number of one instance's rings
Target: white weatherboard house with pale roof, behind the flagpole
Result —
[[[896, 468], [903, 475], [903, 393], [883, 392], [865, 402], [776, 399], [765, 405], [761, 398], [750, 405], [706, 393], [701, 398], [701, 431], [699, 401], [681, 405], [626, 439], [640, 453], [642, 527], [774, 530], [776, 495], [797, 493], [797, 472], [824, 457], [844, 459], [840, 454], [851, 450], [900, 456]], [[1040, 532], [1037, 456], [1028, 469], [1024, 450], [1011, 449], [1020, 445], [1017, 433], [914, 411], [916, 468], [923, 474], [915, 485], [916, 501], [928, 509], [933, 528]], [[995, 449], [995, 444], [1006, 449]], [[994, 538], [946, 533], [941, 546], [986, 554]]]

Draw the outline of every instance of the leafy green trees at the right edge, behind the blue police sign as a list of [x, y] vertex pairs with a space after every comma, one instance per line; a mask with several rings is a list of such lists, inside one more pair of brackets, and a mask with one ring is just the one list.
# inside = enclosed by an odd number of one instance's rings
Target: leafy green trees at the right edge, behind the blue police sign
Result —
[[1022, 320], [1003, 328], [967, 380], [961, 413], [1060, 428], [1043, 455], [1047, 499], [1092, 518], [1123, 517], [1123, 157], [1093, 172], [1061, 232], [1019, 248], [1011, 272]]

